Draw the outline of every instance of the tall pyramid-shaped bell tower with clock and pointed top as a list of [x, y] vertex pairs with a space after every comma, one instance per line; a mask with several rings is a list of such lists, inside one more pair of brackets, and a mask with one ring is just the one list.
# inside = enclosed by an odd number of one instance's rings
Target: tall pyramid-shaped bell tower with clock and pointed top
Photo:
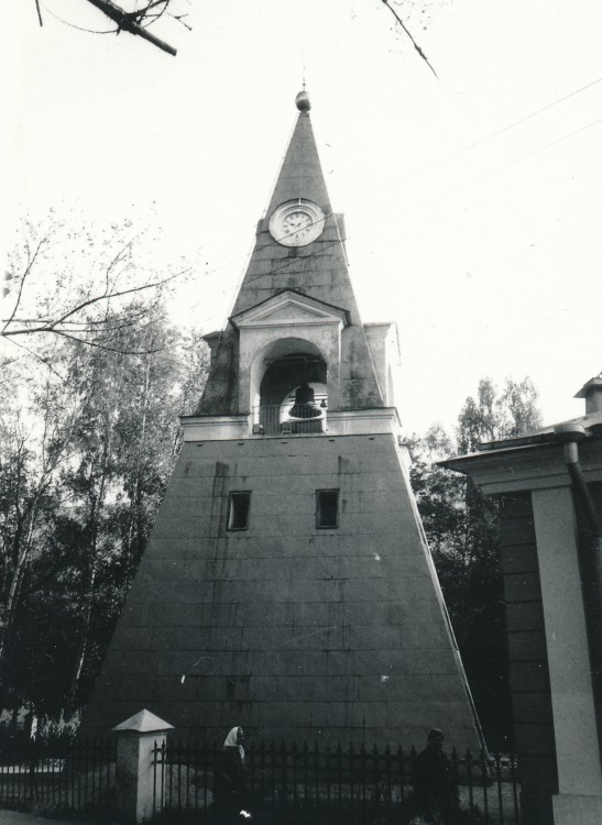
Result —
[[394, 324], [363, 326], [299, 113], [85, 717], [180, 736], [478, 745], [412, 496]]

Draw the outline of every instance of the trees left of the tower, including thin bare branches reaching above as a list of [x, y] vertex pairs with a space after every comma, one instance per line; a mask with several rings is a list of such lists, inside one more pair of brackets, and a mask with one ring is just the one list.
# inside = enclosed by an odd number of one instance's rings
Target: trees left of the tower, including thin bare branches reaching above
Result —
[[179, 447], [177, 416], [201, 389], [206, 344], [163, 309], [188, 267], [161, 267], [157, 248], [129, 221], [92, 232], [51, 210], [23, 221], [10, 256], [0, 330], [7, 702], [61, 707], [85, 694]]

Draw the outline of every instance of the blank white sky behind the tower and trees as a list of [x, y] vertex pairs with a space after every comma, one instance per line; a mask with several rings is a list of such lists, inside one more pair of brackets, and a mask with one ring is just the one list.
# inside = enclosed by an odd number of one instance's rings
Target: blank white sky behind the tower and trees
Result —
[[10, 3], [9, 219], [75, 206], [144, 223], [154, 201], [161, 254], [200, 250], [177, 317], [221, 327], [305, 62], [360, 310], [398, 322], [407, 429], [452, 426], [484, 375], [530, 375], [546, 422], [580, 415], [572, 395], [602, 369], [602, 3], [407, 10], [438, 80], [381, 0], [190, 0], [194, 31], [162, 30], [175, 58], [51, 14], [108, 29], [83, 0], [44, 0], [43, 29], [34, 0]]

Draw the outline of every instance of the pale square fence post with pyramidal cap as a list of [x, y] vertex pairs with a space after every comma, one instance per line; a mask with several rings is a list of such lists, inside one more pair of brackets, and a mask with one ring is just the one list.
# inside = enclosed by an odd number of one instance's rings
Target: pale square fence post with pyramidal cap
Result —
[[[140, 711], [134, 716], [117, 725], [117, 810], [131, 822], [144, 822], [154, 811], [160, 810], [163, 793], [158, 789], [158, 800], [154, 799], [154, 757], [156, 741], [165, 743], [167, 730], [174, 726], [160, 719], [150, 711]], [[163, 769], [160, 777], [163, 781]]]

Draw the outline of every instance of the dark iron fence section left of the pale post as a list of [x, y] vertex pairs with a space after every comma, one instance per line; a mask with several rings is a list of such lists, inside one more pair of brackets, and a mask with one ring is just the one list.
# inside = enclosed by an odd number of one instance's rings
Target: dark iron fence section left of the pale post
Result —
[[0, 805], [114, 811], [116, 745], [0, 741]]

